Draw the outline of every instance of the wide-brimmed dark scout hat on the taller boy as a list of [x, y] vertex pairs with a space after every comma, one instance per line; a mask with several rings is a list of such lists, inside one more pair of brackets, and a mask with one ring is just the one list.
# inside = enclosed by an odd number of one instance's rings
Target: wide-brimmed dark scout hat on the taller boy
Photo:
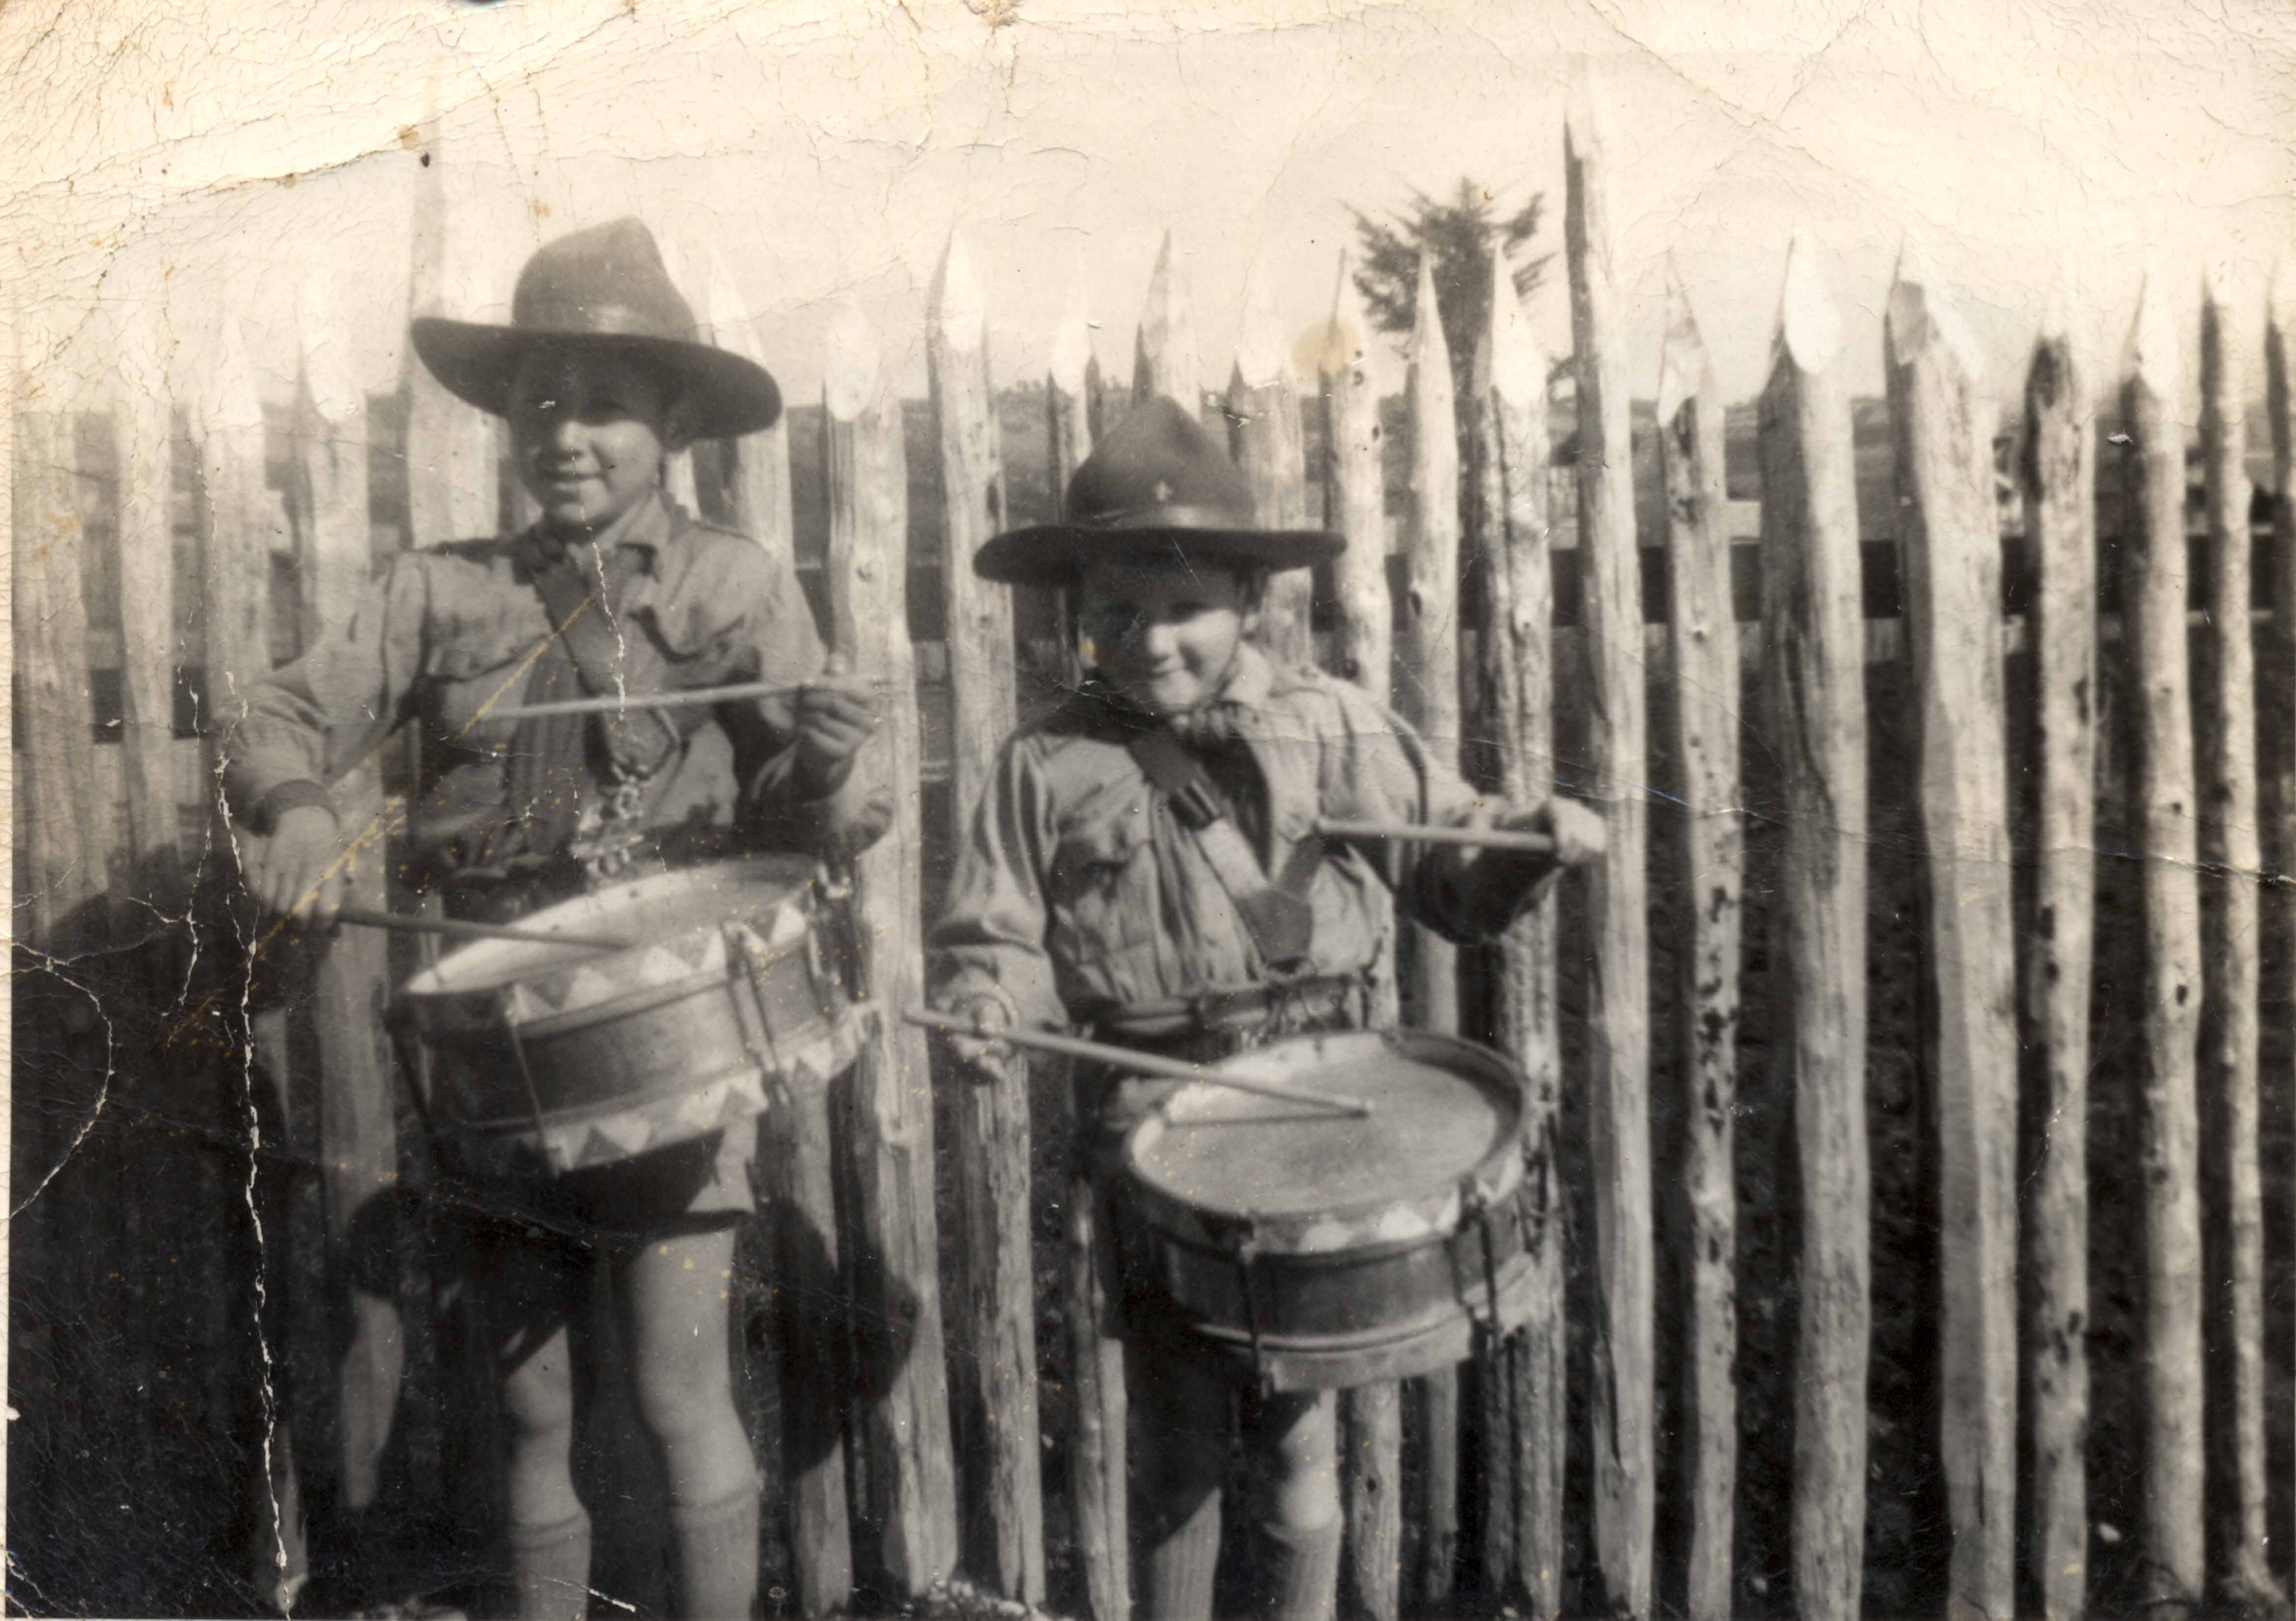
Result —
[[510, 383], [528, 349], [579, 344], [627, 349], [677, 386], [698, 439], [735, 439], [771, 427], [781, 388], [755, 360], [703, 342], [661, 250], [638, 220], [613, 220], [544, 243], [519, 271], [510, 326], [413, 324], [416, 354], [448, 393], [494, 416], [510, 413]]

